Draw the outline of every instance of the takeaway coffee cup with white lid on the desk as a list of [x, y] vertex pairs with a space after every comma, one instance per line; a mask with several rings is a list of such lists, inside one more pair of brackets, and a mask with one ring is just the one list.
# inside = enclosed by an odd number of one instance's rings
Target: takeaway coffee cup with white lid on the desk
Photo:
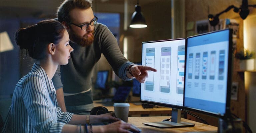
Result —
[[117, 118], [128, 122], [128, 115], [129, 115], [129, 103], [114, 103], [114, 110], [115, 115]]

